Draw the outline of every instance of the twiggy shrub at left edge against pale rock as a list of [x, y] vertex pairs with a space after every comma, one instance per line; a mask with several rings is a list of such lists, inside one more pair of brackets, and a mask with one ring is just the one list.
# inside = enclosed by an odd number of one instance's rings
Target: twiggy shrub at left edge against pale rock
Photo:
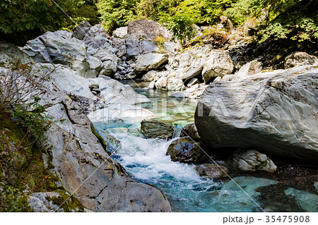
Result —
[[32, 144], [44, 140], [44, 133], [51, 122], [43, 114], [45, 108], [37, 104], [39, 97], [33, 97], [42, 92], [49, 73], [52, 73], [43, 69], [15, 61], [0, 73], [0, 115], [10, 113], [18, 119]]

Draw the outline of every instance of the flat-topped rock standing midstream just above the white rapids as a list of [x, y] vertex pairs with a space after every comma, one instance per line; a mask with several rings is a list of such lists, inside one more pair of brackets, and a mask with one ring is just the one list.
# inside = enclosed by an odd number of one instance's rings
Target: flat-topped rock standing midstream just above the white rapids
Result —
[[146, 138], [169, 139], [175, 133], [175, 128], [160, 121], [144, 119], [141, 121], [141, 133]]

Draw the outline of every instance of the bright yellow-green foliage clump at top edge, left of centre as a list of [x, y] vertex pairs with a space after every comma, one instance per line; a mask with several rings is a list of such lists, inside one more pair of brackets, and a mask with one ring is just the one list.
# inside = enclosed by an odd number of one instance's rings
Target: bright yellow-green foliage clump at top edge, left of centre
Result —
[[99, 0], [96, 4], [105, 30], [125, 26], [136, 18], [137, 0]]

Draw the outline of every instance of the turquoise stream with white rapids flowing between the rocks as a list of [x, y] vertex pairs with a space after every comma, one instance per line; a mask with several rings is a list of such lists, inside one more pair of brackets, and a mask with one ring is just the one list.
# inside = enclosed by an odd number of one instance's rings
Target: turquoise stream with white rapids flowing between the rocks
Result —
[[[169, 98], [172, 94], [170, 92], [146, 90], [134, 83], [129, 85], [136, 92], [151, 99], [152, 103], [143, 104], [143, 107], [151, 110], [156, 119], [175, 126], [194, 122], [196, 101], [177, 102], [176, 99]], [[179, 109], [181, 107], [182, 109]], [[151, 183], [165, 193], [172, 212], [261, 212], [261, 207], [266, 211], [285, 209], [283, 203], [264, 207], [261, 193], [256, 190], [275, 185], [278, 181], [252, 176], [235, 177], [232, 181], [202, 178], [194, 171], [193, 164], [172, 162], [170, 157], [165, 155], [172, 140], [143, 138], [139, 131], [140, 121], [97, 123], [95, 127], [107, 141], [109, 151], [114, 151], [114, 159], [120, 162], [134, 179]], [[317, 195], [314, 196], [316, 198], [313, 198], [313, 206], [317, 205]], [[301, 208], [297, 210], [302, 211]], [[309, 207], [309, 211], [311, 210], [314, 209]]]

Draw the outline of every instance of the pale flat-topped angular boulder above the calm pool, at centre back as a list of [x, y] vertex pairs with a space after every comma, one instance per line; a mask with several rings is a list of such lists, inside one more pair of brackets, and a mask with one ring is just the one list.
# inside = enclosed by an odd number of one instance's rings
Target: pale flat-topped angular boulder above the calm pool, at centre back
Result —
[[143, 56], [139, 56], [136, 61], [136, 67], [134, 71], [136, 73], [144, 73], [153, 69], [159, 68], [168, 59], [167, 54], [148, 53]]

